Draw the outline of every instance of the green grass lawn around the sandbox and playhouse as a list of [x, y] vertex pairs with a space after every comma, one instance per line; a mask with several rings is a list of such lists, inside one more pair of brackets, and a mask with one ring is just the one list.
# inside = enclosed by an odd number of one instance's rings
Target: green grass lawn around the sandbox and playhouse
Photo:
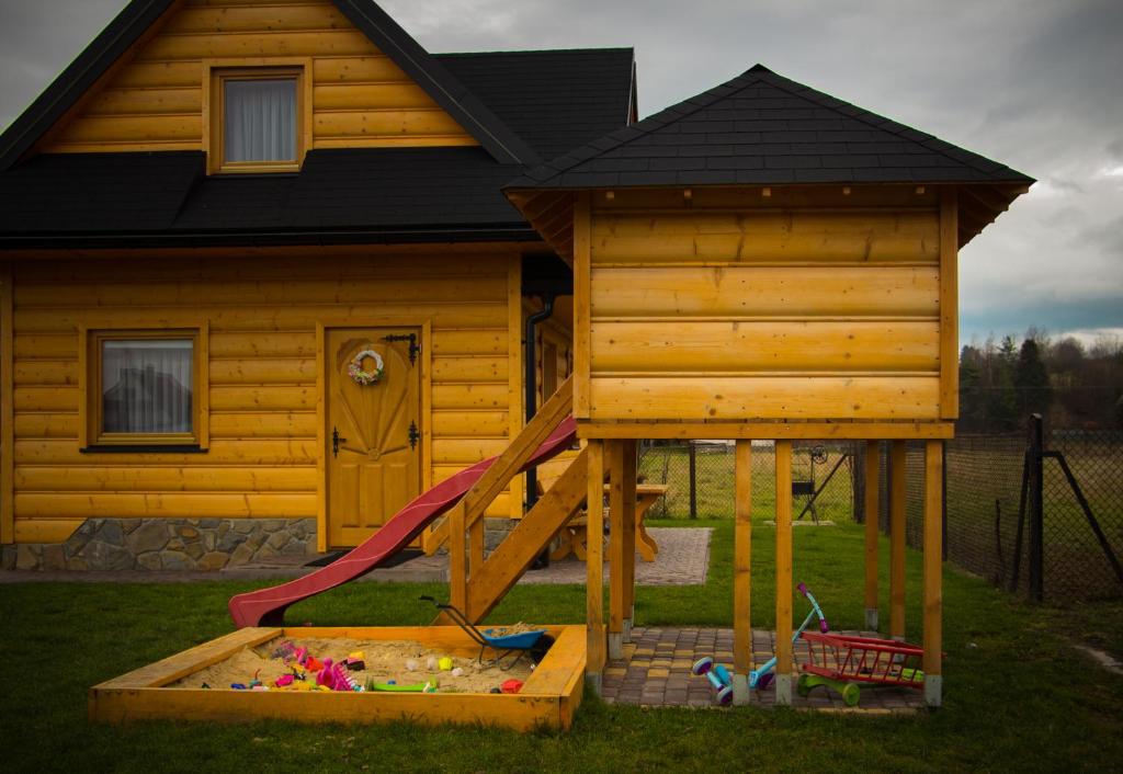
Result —
[[[730, 625], [732, 523], [701, 523], [716, 530], [709, 583], [641, 588], [639, 625]], [[754, 529], [758, 627], [774, 621], [773, 537], [763, 525]], [[861, 528], [852, 526], [795, 531], [795, 576], [813, 589], [834, 628], [861, 625]], [[910, 638], [920, 637], [919, 571], [920, 556], [910, 554]], [[885, 582], [883, 573], [883, 588]], [[3, 768], [1048, 771], [1110, 768], [1123, 756], [1123, 677], [1071, 647], [1084, 640], [1123, 655], [1123, 604], [1024, 607], [951, 568], [944, 576], [944, 707], [914, 717], [643, 710], [586, 699], [572, 732], [557, 735], [409, 725], [86, 722], [88, 686], [229, 631], [227, 599], [255, 585], [264, 584], [0, 585], [0, 655], [8, 665]], [[292, 608], [289, 620], [423, 623], [431, 609], [417, 601], [421, 593], [446, 592], [440, 585], [353, 584]], [[582, 586], [521, 586], [492, 619], [579, 622], [584, 593]], [[801, 601], [795, 605], [802, 616]]]

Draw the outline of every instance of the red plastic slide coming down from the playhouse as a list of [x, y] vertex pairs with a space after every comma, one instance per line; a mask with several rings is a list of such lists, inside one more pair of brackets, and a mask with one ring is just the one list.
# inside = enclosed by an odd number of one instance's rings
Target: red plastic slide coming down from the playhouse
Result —
[[[577, 437], [577, 425], [567, 417], [542, 441], [522, 470], [539, 465], [564, 452]], [[371, 572], [417, 538], [429, 523], [448, 511], [472, 489], [499, 457], [466, 467], [398, 511], [366, 543], [326, 567], [271, 589], [261, 589], [230, 599], [230, 617], [239, 629], [246, 626], [281, 626], [284, 611], [293, 602], [335, 589]]]

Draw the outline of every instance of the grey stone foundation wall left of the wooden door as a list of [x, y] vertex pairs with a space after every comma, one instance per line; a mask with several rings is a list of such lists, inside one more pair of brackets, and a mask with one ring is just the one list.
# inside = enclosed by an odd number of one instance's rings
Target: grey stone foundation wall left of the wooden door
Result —
[[316, 519], [88, 519], [61, 544], [6, 545], [4, 570], [217, 571], [314, 556]]

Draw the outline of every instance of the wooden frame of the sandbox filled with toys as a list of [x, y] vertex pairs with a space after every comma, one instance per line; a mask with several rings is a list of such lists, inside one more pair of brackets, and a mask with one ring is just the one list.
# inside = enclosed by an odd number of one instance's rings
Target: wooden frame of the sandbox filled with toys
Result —
[[245, 648], [273, 639], [410, 640], [449, 655], [480, 653], [457, 627], [261, 627], [246, 628], [90, 689], [94, 722], [175, 719], [249, 722], [265, 718], [296, 722], [376, 723], [411, 721], [429, 726], [481, 723], [519, 731], [567, 730], [585, 683], [584, 626], [542, 626], [557, 641], [518, 694], [492, 693], [323, 693], [166, 688]]

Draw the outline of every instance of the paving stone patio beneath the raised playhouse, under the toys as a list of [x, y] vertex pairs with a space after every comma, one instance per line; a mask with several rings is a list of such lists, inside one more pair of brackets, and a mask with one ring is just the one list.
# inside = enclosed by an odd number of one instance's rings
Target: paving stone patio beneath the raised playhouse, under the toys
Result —
[[[862, 634], [876, 637], [876, 632]], [[774, 655], [775, 635], [754, 630], [752, 659], [763, 664]], [[703, 656], [712, 656], [729, 667], [733, 663], [732, 629], [632, 629], [632, 641], [624, 645], [624, 657], [609, 661], [604, 670], [602, 694], [608, 702], [642, 707], [696, 707], [720, 709], [713, 689], [704, 677], [691, 673]], [[807, 659], [806, 645], [797, 643], [796, 664]], [[847, 707], [842, 698], [827, 688], [816, 688], [807, 696], [792, 691], [792, 707], [825, 712], [865, 714], [913, 713], [924, 709], [920, 691], [896, 686], [861, 689], [858, 707]], [[775, 707], [775, 691], [754, 691], [755, 707]]]

